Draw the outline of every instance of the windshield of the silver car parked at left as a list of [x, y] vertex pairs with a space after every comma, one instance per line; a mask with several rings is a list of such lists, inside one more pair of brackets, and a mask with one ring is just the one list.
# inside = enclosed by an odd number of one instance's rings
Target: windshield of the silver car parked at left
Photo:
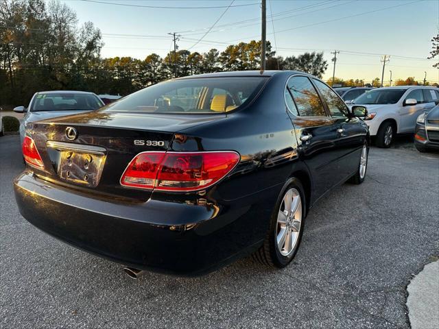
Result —
[[64, 110], [96, 110], [104, 103], [95, 95], [77, 93], [44, 93], [37, 94], [31, 112], [64, 111]]

